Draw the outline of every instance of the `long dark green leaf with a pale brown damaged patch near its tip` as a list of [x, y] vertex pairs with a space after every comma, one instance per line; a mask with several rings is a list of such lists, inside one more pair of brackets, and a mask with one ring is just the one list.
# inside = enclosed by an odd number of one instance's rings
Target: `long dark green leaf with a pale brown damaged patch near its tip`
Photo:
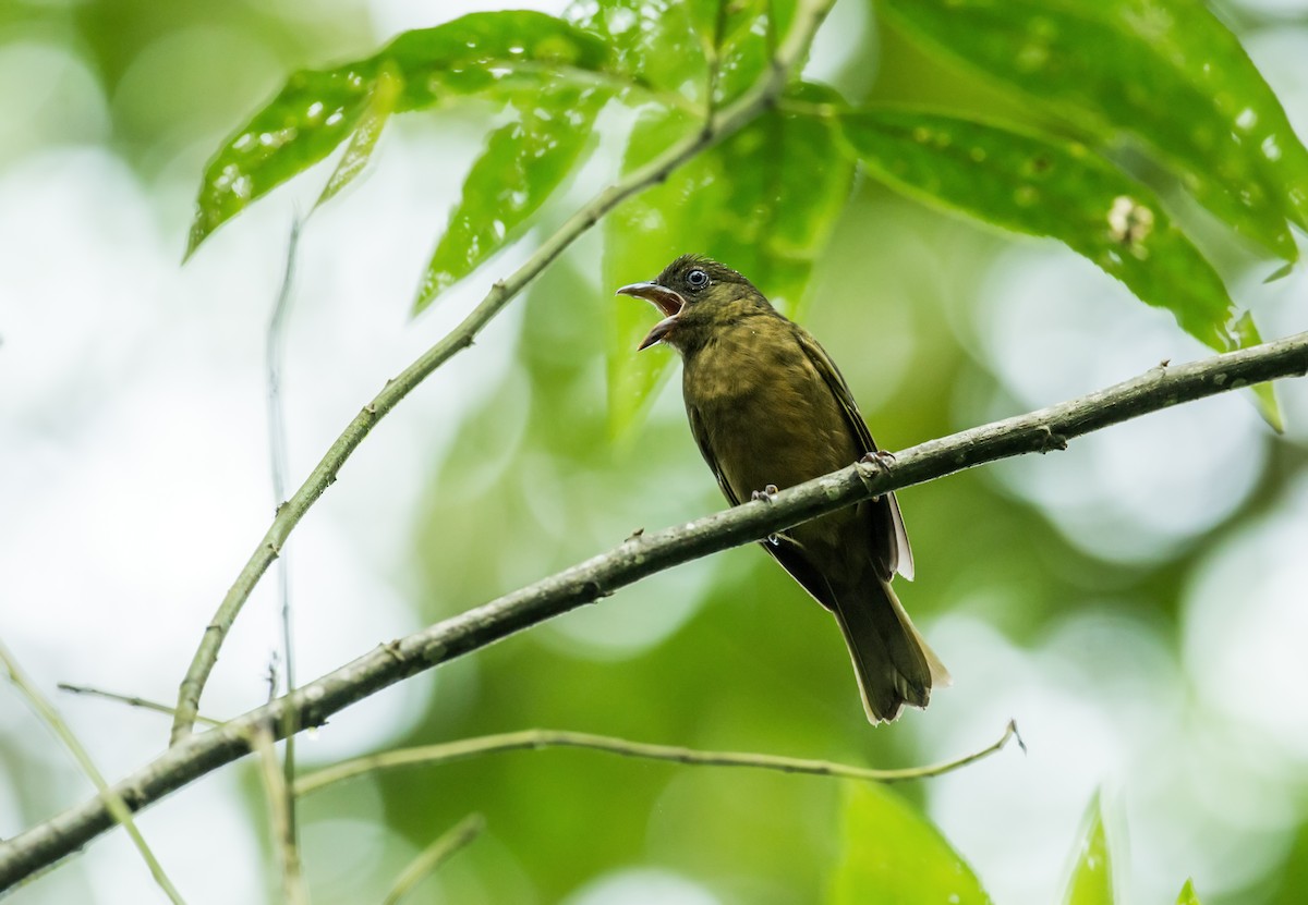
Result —
[[876, 178], [997, 226], [1067, 243], [1214, 349], [1248, 341], [1222, 279], [1154, 192], [1075, 141], [912, 110], [841, 118]]

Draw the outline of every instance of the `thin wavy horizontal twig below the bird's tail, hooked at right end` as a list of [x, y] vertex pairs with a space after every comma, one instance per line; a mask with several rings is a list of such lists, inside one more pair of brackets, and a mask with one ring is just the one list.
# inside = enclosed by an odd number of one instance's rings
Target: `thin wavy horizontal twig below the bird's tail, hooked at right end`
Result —
[[417, 764], [447, 764], [450, 761], [493, 755], [504, 751], [540, 751], [543, 748], [587, 748], [590, 751], [603, 751], [610, 755], [623, 755], [625, 757], [644, 757], [646, 760], [663, 760], [675, 764], [688, 764], [693, 766], [747, 766], [761, 770], [780, 770], [781, 773], [804, 773], [808, 776], [840, 777], [842, 779], [863, 779], [866, 782], [905, 782], [908, 779], [926, 779], [930, 777], [950, 773], [968, 764], [973, 764], [984, 757], [995, 753], [1010, 739], [1018, 734], [1018, 726], [1010, 722], [1003, 730], [998, 742], [981, 751], [957, 757], [955, 760], [934, 764], [931, 766], [909, 766], [895, 770], [878, 770], [867, 766], [853, 766], [836, 761], [808, 760], [802, 757], [782, 757], [778, 755], [760, 755], [755, 752], [736, 751], [698, 751], [696, 748], [683, 748], [680, 745], [649, 744], [646, 742], [630, 742], [628, 739], [615, 739], [608, 735], [591, 735], [590, 732], [569, 732], [555, 728], [526, 728], [518, 732], [504, 732], [501, 735], [483, 735], [476, 739], [459, 739], [443, 744], [429, 744], [419, 748], [404, 748], [400, 751], [387, 751], [379, 755], [369, 755], [356, 760], [336, 764], [327, 769], [310, 773], [296, 783], [296, 795], [307, 795], [327, 786], [351, 779], [364, 773], [374, 770], [388, 770], [396, 766], [413, 766]]

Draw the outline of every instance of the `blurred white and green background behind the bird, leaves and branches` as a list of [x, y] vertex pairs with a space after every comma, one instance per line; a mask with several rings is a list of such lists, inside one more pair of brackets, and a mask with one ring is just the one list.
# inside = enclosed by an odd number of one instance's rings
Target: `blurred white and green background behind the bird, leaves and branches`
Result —
[[[171, 701], [266, 530], [266, 323], [290, 218], [328, 171], [256, 204], [182, 267], [205, 158], [290, 69], [498, 7], [0, 5], [0, 638], [110, 777], [161, 751], [166, 718], [60, 696], [55, 683]], [[1308, 135], [1305, 4], [1220, 10]], [[855, 94], [930, 101], [959, 85], [878, 33], [858, 0], [837, 4], [816, 59], [812, 75]], [[989, 103], [977, 89], [977, 107]], [[284, 377], [293, 484], [530, 252], [535, 235], [409, 319], [485, 126], [458, 110], [400, 118], [370, 178], [310, 221]], [[544, 222], [615, 166], [602, 149]], [[721, 506], [675, 384], [638, 435], [607, 437], [606, 316], [629, 299], [599, 285], [599, 254], [598, 234], [577, 243], [368, 438], [297, 530], [301, 679], [636, 527]], [[1308, 328], [1303, 268], [1264, 285], [1271, 269], [1232, 259], [1236, 299], [1264, 336]], [[806, 323], [889, 449], [1203, 354], [1061, 246], [1010, 241], [874, 184], [815, 289]], [[955, 687], [892, 728], [863, 721], [829, 617], [747, 548], [374, 696], [301, 744], [302, 761], [545, 726], [888, 766], [978, 748], [1014, 717], [1025, 757], [1006, 751], [903, 790], [995, 902], [1057, 897], [1097, 787], [1126, 901], [1172, 901], [1193, 875], [1205, 902], [1299, 902], [1308, 384], [1283, 384], [1282, 403], [1279, 438], [1227, 395], [903, 493], [920, 578], [900, 594]], [[224, 647], [207, 713], [266, 698], [273, 587], [259, 587]], [[0, 688], [0, 837], [90, 794]], [[315, 902], [371, 901], [477, 810], [487, 834], [413, 901], [816, 901], [840, 851], [838, 800], [838, 785], [816, 778], [502, 755], [310, 798], [303, 846]], [[277, 898], [249, 762], [140, 824], [188, 901]], [[12, 901], [161, 898], [116, 832]]]

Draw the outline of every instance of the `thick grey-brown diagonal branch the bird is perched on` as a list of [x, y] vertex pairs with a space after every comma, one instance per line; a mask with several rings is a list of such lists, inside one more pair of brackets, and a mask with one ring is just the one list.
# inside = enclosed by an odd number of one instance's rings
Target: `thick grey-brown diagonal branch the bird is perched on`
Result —
[[[266, 725], [319, 726], [383, 688], [479, 650], [553, 616], [599, 600], [619, 587], [681, 562], [766, 538], [861, 500], [1027, 452], [1066, 447], [1075, 437], [1180, 403], [1240, 387], [1308, 374], [1308, 333], [1172, 367], [1154, 367], [1107, 390], [1029, 415], [995, 421], [896, 454], [886, 464], [854, 464], [782, 490], [772, 502], [748, 502], [663, 531], [644, 534], [610, 552], [506, 594], [481, 607], [378, 646], [339, 670], [235, 719], [192, 735], [112, 786], [140, 810], [249, 751], [250, 732]], [[0, 892], [76, 851], [114, 825], [93, 798], [0, 844]]]

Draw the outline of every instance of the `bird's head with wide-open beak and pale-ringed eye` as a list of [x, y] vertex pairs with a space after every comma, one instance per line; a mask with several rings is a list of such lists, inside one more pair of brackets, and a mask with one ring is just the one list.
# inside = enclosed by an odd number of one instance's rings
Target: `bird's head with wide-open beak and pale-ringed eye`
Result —
[[641, 341], [641, 349], [667, 343], [681, 353], [692, 352], [715, 331], [751, 314], [772, 311], [752, 282], [698, 255], [681, 255], [654, 280], [623, 286], [617, 294], [644, 298], [663, 314]]

